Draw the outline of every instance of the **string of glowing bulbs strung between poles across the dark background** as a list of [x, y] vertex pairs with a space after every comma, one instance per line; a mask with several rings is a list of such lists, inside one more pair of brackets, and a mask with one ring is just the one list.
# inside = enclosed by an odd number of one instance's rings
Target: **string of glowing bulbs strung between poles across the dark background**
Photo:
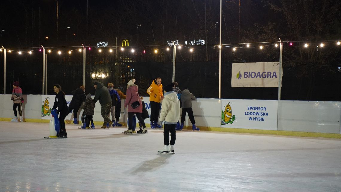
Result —
[[[124, 42], [125, 40], [123, 40]], [[166, 50], [166, 51], [170, 51], [171, 49], [169, 49], [170, 47], [173, 46], [169, 46], [169, 45], [137, 45], [137, 46], [129, 46], [129, 43], [123, 43], [122, 42], [122, 46], [105, 46], [105, 47], [96, 47], [96, 46], [86, 46], [86, 49], [88, 49], [89, 51], [92, 49], [97, 49], [98, 52], [102, 52], [102, 51], [109, 51], [109, 53], [112, 53], [114, 50], [121, 50], [121, 51], [125, 51], [125, 50], [129, 50], [134, 53], [137, 51], [146, 53], [146, 52], [154, 52], [155, 54], [158, 53], [160, 50]], [[309, 43], [308, 43], [309, 42]], [[227, 48], [231, 48], [233, 51], [237, 51], [237, 49], [250, 49], [250, 48], [258, 48], [260, 50], [264, 49], [264, 47], [267, 46], [274, 46], [274, 47], [278, 47], [279, 45], [279, 41], [272, 41], [272, 42], [254, 42], [254, 43], [232, 43], [232, 44], [222, 44], [220, 45], [205, 45], [205, 44], [201, 44], [201, 45], [187, 45], [187, 44], [178, 44], [176, 45], [178, 50], [181, 50], [182, 47], [186, 47], [187, 49], [189, 49], [190, 52], [194, 52], [195, 50], [201, 50], [201, 48], [194, 48], [197, 46], [210, 46], [210, 47], [216, 47], [218, 46], [220, 49], [221, 47], [227, 47]], [[335, 43], [336, 45], [340, 45], [340, 41], [337, 40], [324, 40], [324, 41], [284, 41], [283, 43], [288, 44], [289, 46], [295, 46], [294, 44], [298, 43], [304, 43], [303, 47], [304, 48], [308, 48], [310, 45], [313, 45], [317, 48], [322, 48], [324, 47], [326, 44], [329, 43]], [[140, 47], [158, 47], [158, 46], [162, 46], [162, 48], [154, 48], [154, 49], [140, 49]], [[129, 48], [128, 48], [129, 47]], [[58, 50], [56, 50], [55, 48], [59, 48]], [[76, 49], [71, 49], [71, 50], [61, 50], [64, 48], [76, 48]], [[39, 50], [39, 52], [42, 52], [42, 48], [40, 47], [12, 47], [12, 48], [5, 48], [7, 50], [8, 53], [12, 53], [12, 52], [17, 52], [19, 55], [23, 54], [24, 52], [28, 53], [28, 54], [32, 54], [33, 52]], [[82, 52], [83, 51], [83, 46], [61, 46], [61, 47], [45, 47], [45, 49], [47, 49], [48, 53], [51, 52], [57, 52], [59, 55], [61, 55], [63, 52], [68, 52], [69, 54], [72, 54], [73, 51], [77, 51], [78, 52]], [[23, 51], [26, 50], [26, 51]], [[0, 49], [0, 52], [3, 51], [3, 48]]]

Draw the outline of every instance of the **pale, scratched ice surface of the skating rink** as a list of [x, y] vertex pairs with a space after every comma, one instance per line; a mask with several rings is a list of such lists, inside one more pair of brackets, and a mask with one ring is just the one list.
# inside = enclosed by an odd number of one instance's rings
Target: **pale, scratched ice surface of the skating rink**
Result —
[[44, 139], [47, 123], [0, 121], [1, 192], [341, 191], [341, 140], [123, 128]]

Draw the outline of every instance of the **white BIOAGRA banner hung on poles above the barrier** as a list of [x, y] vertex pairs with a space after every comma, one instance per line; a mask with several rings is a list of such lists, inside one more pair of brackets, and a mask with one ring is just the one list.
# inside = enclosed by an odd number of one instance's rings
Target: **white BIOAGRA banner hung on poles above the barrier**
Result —
[[278, 78], [279, 62], [232, 64], [231, 87], [278, 87]]

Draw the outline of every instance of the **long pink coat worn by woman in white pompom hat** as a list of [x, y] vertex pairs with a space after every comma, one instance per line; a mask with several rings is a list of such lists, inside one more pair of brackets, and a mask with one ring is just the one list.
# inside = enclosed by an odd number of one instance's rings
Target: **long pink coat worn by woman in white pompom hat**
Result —
[[[124, 107], [128, 106], [128, 112], [142, 113], [142, 101], [141, 101], [140, 96], [138, 95], [137, 91], [138, 91], [137, 85], [130, 85], [127, 88], [127, 98], [125, 98]], [[133, 109], [131, 104], [137, 100], [140, 103], [140, 106]]]

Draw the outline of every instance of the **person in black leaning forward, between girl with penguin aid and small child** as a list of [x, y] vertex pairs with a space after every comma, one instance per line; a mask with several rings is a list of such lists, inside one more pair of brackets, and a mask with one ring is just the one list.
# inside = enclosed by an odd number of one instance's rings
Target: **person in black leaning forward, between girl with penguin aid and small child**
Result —
[[[72, 96], [67, 114], [69, 114], [73, 110], [73, 123], [74, 124], [78, 124], [77, 112], [80, 106], [82, 105], [82, 102], [86, 100], [84, 91], [85, 91], [85, 86], [82, 85], [79, 88], [76, 88], [76, 90], [73, 90], [71, 92], [73, 96]], [[67, 120], [66, 122], [71, 123], [70, 120]]]

